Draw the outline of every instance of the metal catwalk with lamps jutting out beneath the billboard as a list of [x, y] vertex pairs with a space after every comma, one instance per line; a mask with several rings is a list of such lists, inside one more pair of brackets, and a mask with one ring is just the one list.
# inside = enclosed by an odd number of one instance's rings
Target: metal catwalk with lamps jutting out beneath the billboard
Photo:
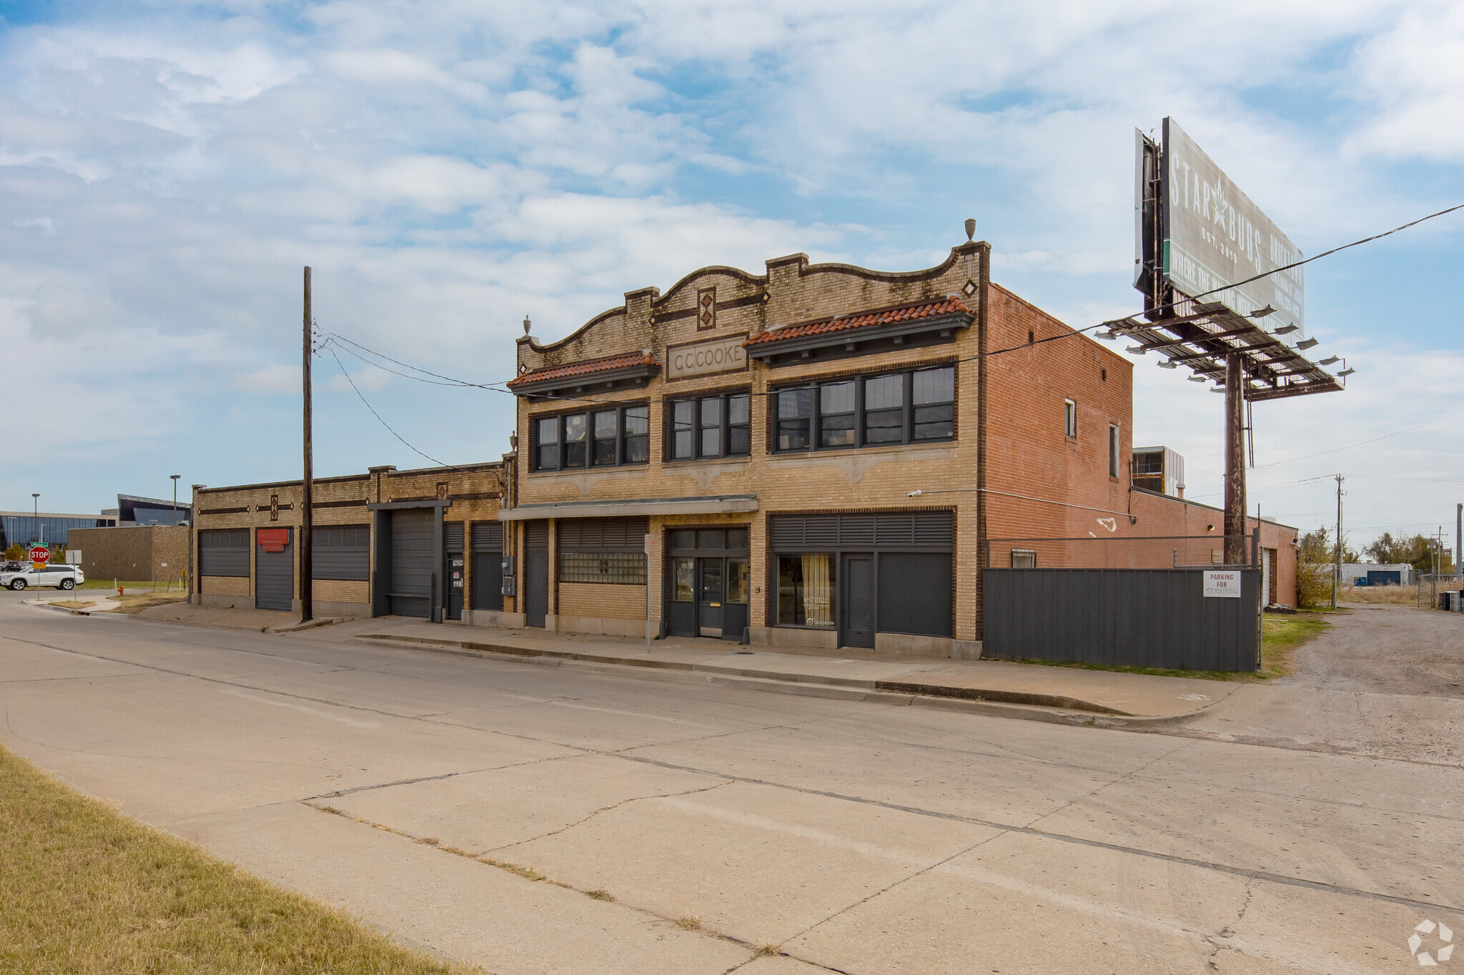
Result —
[[1184, 300], [1180, 314], [1155, 322], [1117, 319], [1105, 322], [1116, 336], [1136, 339], [1132, 352], [1159, 352], [1176, 365], [1186, 365], [1224, 386], [1225, 360], [1240, 355], [1247, 401], [1282, 399], [1309, 393], [1331, 393], [1342, 383], [1300, 351], [1268, 332], [1265, 319], [1231, 311], [1217, 303]]

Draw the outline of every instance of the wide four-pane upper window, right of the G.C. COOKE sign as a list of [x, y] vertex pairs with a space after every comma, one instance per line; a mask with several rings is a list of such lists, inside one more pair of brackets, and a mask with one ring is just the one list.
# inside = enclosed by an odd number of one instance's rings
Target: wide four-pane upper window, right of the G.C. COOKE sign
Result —
[[777, 450], [950, 440], [956, 436], [956, 367], [782, 389], [773, 411]]

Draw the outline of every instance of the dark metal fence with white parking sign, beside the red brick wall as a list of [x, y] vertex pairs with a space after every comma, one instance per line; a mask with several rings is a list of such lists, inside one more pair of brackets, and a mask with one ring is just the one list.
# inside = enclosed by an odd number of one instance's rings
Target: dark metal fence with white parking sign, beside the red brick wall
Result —
[[1255, 671], [1258, 555], [1259, 535], [988, 539], [982, 656]]

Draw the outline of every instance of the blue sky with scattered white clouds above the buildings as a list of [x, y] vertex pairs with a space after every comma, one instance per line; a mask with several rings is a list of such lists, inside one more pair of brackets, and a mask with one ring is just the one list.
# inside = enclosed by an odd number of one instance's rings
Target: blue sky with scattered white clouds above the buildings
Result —
[[[1133, 132], [1173, 115], [1319, 253], [1464, 203], [1464, 4], [0, 0], [0, 509], [300, 472], [315, 317], [508, 379], [627, 291], [965, 240], [1075, 327], [1132, 314]], [[1464, 212], [1306, 268], [1342, 393], [1255, 406], [1250, 507], [1452, 534]], [[1117, 346], [1118, 351], [1123, 345]], [[1221, 501], [1221, 403], [1135, 358], [1135, 443]], [[389, 424], [363, 405], [341, 368]], [[498, 459], [512, 398], [316, 360], [318, 477]], [[406, 440], [411, 447], [403, 443]], [[1370, 443], [1367, 443], [1370, 441]], [[413, 447], [420, 453], [414, 453]], [[425, 456], [423, 456], [425, 455]]]

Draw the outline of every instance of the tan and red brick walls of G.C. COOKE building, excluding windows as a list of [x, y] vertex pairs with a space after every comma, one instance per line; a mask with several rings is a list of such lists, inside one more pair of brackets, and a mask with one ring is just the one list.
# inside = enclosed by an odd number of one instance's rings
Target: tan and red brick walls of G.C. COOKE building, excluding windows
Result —
[[[747, 528], [752, 640], [832, 648], [833, 637], [826, 631], [782, 631], [777, 623], [769, 519], [808, 512], [949, 510], [955, 519], [950, 637], [922, 643], [889, 634], [878, 643], [890, 652], [956, 655], [971, 655], [978, 646], [987, 538], [1181, 534], [1189, 506], [1154, 497], [1136, 503], [1130, 491], [1132, 364], [991, 284], [988, 265], [990, 247], [968, 243], [953, 249], [941, 265], [909, 273], [810, 265], [802, 254], [767, 262], [763, 275], [706, 268], [665, 295], [656, 288], [627, 292], [622, 307], [591, 319], [562, 341], [540, 345], [531, 336], [518, 339], [518, 377], [511, 383], [520, 393], [520, 446], [511, 458], [517, 493], [505, 519], [514, 526], [514, 538], [521, 538], [524, 519], [549, 519], [546, 626], [572, 629], [558, 615], [589, 620], [591, 626], [610, 617], [644, 617], [643, 602], [594, 598], [586, 592], [594, 586], [556, 583], [556, 525], [568, 517], [649, 517], [657, 539], [657, 557], [649, 566], [653, 630], [665, 630], [662, 615], [669, 607], [656, 598], [669, 585], [663, 579], [669, 532], [678, 526]], [[862, 326], [840, 332], [839, 322], [849, 316], [875, 320], [878, 316], [865, 313], [947, 297], [969, 308], [968, 327], [957, 323], [938, 335], [914, 336], [909, 344], [865, 341], [875, 332]], [[840, 319], [827, 322], [836, 316]], [[814, 335], [823, 345], [761, 361], [764, 348], [793, 348], [780, 333]], [[840, 348], [824, 333], [845, 336], [849, 344]], [[717, 360], [733, 346], [747, 351], [744, 361], [728, 355]], [[779, 387], [933, 365], [952, 365], [956, 373], [955, 437], [892, 446], [774, 449], [773, 395]], [[751, 398], [748, 456], [671, 459], [668, 403], [722, 392]], [[1076, 412], [1076, 436], [1066, 436], [1066, 401]], [[650, 420], [644, 463], [536, 469], [536, 421], [641, 403], [649, 406]], [[1117, 439], [1113, 472], [1110, 427]], [[918, 494], [912, 497], [914, 491]], [[678, 504], [697, 500], [706, 501], [701, 513], [675, 513]], [[523, 593], [529, 582], [524, 561], [515, 567]], [[1277, 574], [1284, 592], [1288, 576], [1284, 570]]]

